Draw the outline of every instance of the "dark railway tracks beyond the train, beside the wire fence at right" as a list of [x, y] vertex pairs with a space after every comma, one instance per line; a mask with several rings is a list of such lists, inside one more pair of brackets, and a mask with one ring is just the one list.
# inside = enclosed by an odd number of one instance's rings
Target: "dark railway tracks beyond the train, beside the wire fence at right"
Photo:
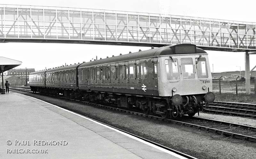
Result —
[[242, 117], [256, 117], [256, 104], [213, 102], [206, 106], [203, 111]]

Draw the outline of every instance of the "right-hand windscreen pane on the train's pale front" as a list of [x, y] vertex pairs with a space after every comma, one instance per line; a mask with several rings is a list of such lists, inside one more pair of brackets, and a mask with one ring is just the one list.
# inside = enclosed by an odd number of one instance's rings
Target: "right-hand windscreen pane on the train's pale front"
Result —
[[[196, 58], [196, 61], [197, 60], [198, 58]], [[199, 79], [208, 78], [206, 59], [204, 57], [201, 57], [196, 64], [196, 73]]]

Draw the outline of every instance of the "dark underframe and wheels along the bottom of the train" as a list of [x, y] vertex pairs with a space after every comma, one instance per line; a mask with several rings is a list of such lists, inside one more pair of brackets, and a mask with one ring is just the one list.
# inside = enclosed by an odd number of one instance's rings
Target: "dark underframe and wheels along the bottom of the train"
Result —
[[[119, 94], [111, 92], [85, 91], [60, 88], [31, 87], [33, 92], [49, 95], [62, 95], [90, 102], [105, 102], [122, 108], [138, 108], [145, 114], [158, 114], [163, 118], [176, 118], [188, 114], [189, 117], [205, 105], [204, 94], [199, 95], [174, 95], [172, 97], [143, 96]], [[175, 98], [174, 98], [175, 97]], [[177, 102], [179, 100], [179, 102]]]

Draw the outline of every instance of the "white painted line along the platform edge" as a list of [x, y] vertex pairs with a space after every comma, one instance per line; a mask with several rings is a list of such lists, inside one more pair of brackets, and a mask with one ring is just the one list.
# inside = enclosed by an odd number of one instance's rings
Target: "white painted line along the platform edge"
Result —
[[[16, 93], [16, 92], [15, 92], [15, 93]], [[20, 94], [20, 93], [17, 93], [17, 94]], [[23, 95], [23, 94], [20, 94], [20, 95]], [[24, 96], [28, 96], [28, 95], [24, 95]], [[28, 96], [28, 97], [31, 97], [31, 96]], [[31, 97], [31, 98], [34, 98], [34, 97]], [[42, 100], [37, 99], [37, 98], [34, 98], [34, 99], [39, 100], [39, 101], [41, 101], [41, 102], [45, 102], [45, 101], [42, 101]], [[137, 137], [135, 137], [135, 136], [132, 136], [132, 135], [130, 135], [130, 134], [124, 133], [124, 132], [122, 132], [122, 131], [120, 131], [120, 130], [117, 130], [117, 129], [115, 129], [115, 128], [112, 128], [112, 127], [110, 127], [110, 126], [108, 126], [108, 125], [99, 123], [99, 122], [97, 122], [97, 121], [95, 121], [95, 120], [92, 120], [92, 119], [90, 119], [90, 118], [88, 118], [88, 117], [84, 117], [84, 116], [82, 116], [82, 115], [80, 115], [80, 114], [77, 114], [77, 113], [75, 113], [75, 112], [73, 112], [73, 111], [66, 110], [66, 109], [64, 109], [64, 108], [61, 108], [61, 107], [59, 107], [59, 106], [57, 106], [57, 105], [54, 105], [54, 104], [51, 104], [51, 103], [48, 103], [48, 102], [45, 102], [45, 103], [50, 104], [50, 105], [52, 105], [52, 106], [54, 106], [54, 107], [60, 108], [60, 109], [62, 109], [62, 110], [65, 110], [65, 111], [67, 111], [67, 112], [70, 112], [70, 113], [72, 113], [72, 114], [75, 114], [75, 115], [77, 115], [77, 116], [79, 116], [79, 117], [83, 117], [83, 118], [85, 118], [85, 119], [87, 119], [87, 120], [90, 120], [90, 121], [92, 121], [92, 122], [94, 122], [94, 123], [97, 123], [97, 124], [99, 124], [99, 125], [105, 126], [105, 127], [109, 128], [109, 129], [111, 129], [111, 130], [114, 130], [114, 131], [116, 131], [116, 132], [118, 132], [118, 133], [121, 133], [121, 134], [127, 136], [127, 137], [130, 137], [130, 138], [132, 138], [132, 139], [134, 139], [134, 140], [140, 141], [140, 142], [142, 142], [142, 143], [144, 143], [144, 144], [147, 144], [148, 146], [151, 146], [151, 147], [153, 147], [153, 148], [156, 148], [156, 149], [158, 149], [158, 150], [161, 150], [161, 151], [163, 151], [163, 152], [165, 152], [165, 153], [168, 153], [168, 154], [173, 155], [173, 156], [175, 156], [175, 157], [178, 157], [178, 158], [180, 158], [180, 159], [187, 159], [186, 157], [183, 157], [183, 156], [181, 156], [181, 155], [178, 155], [178, 154], [176, 154], [176, 153], [174, 153], [174, 152], [172, 152], [172, 151], [168, 151], [168, 150], [166, 150], [166, 149], [164, 149], [164, 148], [161, 148], [161, 147], [159, 147], [159, 146], [156, 146], [156, 145], [154, 145], [154, 144], [151, 144], [151, 143], [149, 143], [149, 142], [147, 142], [147, 141], [144, 141], [144, 140], [142, 140], [142, 139], [139, 139], [139, 138], [137, 138]], [[180, 152], [180, 153], [181, 153], [181, 152]], [[196, 158], [195, 158], [195, 159], [196, 159]]]

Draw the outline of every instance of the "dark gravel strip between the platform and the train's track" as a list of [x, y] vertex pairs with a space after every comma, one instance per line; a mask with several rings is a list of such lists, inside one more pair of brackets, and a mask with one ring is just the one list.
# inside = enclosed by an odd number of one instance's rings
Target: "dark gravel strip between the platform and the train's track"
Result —
[[[224, 138], [220, 135], [206, 133], [195, 128], [188, 128], [119, 111], [86, 106], [81, 103], [31, 93], [24, 94], [29, 94], [46, 102], [76, 111], [87, 117], [94, 118], [199, 159], [255, 159], [256, 143]], [[200, 117], [207, 116], [206, 113], [201, 114]], [[217, 117], [218, 115], [212, 116]], [[229, 116], [229, 118], [233, 118], [233, 116]]]

